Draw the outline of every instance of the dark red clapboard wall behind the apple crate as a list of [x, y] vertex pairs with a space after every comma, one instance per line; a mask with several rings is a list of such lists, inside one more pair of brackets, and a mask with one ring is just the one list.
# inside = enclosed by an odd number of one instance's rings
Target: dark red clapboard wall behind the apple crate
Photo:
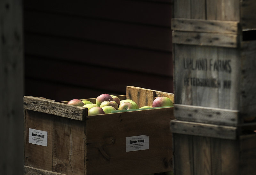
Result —
[[173, 93], [171, 0], [24, 1], [25, 94]]

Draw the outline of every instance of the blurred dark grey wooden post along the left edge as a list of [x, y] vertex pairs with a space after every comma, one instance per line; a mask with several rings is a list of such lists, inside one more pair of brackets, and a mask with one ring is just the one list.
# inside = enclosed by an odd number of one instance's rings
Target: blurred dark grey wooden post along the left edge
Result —
[[0, 174], [23, 174], [22, 1], [0, 1]]

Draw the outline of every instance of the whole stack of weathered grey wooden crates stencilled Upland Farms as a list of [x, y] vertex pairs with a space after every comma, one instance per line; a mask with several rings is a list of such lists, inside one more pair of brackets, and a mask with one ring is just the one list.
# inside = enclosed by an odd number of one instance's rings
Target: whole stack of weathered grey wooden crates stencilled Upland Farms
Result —
[[173, 7], [175, 174], [255, 174], [256, 2]]

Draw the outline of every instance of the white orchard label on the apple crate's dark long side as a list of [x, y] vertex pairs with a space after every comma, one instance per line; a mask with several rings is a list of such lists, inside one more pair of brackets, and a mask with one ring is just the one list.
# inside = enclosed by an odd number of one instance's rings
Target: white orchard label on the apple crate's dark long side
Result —
[[126, 152], [149, 149], [149, 136], [126, 137]]

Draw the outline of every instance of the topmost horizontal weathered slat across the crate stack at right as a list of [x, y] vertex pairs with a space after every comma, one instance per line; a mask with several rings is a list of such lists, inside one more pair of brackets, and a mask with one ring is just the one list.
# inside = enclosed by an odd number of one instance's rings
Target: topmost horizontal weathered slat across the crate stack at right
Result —
[[172, 30], [241, 34], [238, 21], [172, 19]]

